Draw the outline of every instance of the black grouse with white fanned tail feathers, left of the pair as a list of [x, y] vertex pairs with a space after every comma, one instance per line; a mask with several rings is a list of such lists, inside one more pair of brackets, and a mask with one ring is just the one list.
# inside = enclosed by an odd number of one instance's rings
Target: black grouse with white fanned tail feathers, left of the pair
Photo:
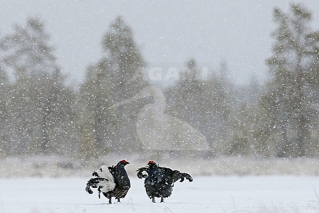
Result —
[[93, 172], [92, 176], [95, 178], [91, 178], [86, 183], [85, 190], [92, 194], [90, 187], [98, 188], [99, 198], [102, 192], [109, 199], [109, 204], [112, 203], [112, 197], [120, 202], [120, 198], [124, 198], [131, 187], [129, 176], [124, 168], [127, 164], [129, 164], [128, 161], [121, 160], [116, 166], [103, 165], [98, 171]]

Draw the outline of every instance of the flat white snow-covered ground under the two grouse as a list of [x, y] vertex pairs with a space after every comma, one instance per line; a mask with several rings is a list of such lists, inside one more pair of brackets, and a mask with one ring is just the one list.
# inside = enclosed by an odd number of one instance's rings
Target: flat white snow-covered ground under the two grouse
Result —
[[[0, 213], [318, 213], [319, 177], [197, 176], [177, 182], [165, 203], [151, 203], [131, 176], [122, 203], [85, 192], [88, 178], [2, 178]], [[101, 197], [102, 198], [102, 197]], [[114, 201], [114, 200], [113, 200]], [[157, 200], [159, 202], [159, 200]]]

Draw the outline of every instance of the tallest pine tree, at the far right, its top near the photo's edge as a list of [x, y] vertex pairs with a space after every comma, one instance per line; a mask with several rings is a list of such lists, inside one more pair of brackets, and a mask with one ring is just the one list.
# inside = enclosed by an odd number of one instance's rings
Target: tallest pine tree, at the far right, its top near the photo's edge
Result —
[[309, 26], [311, 13], [299, 4], [291, 4], [289, 14], [276, 8], [274, 20], [278, 25], [273, 33], [276, 41], [267, 60], [273, 78], [261, 98], [262, 131], [273, 141], [268, 146], [270, 155], [304, 156], [313, 143], [311, 126], [318, 120], [318, 113], [313, 114], [318, 97], [311, 95], [314, 76], [318, 76], [317, 33]]

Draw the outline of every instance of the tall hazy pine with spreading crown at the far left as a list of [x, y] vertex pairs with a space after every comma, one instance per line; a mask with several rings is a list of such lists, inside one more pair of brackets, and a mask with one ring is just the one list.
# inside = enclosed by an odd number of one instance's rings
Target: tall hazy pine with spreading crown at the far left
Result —
[[64, 143], [55, 139], [66, 131], [59, 125], [68, 118], [65, 105], [72, 100], [66, 102], [71, 96], [61, 94], [66, 91], [64, 77], [49, 39], [45, 23], [35, 17], [28, 18], [23, 27], [15, 26], [0, 42], [4, 67], [15, 78], [9, 93], [9, 120], [12, 147], [18, 152], [56, 151], [58, 143]]

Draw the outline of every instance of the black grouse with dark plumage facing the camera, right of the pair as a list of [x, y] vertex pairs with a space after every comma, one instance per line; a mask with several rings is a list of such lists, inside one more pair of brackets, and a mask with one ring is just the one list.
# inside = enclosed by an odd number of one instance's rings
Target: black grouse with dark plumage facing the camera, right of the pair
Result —
[[[153, 160], [149, 161], [147, 167], [136, 170], [139, 179], [145, 178], [144, 186], [147, 195], [155, 203], [155, 197], [160, 197], [160, 202], [164, 202], [164, 198], [171, 196], [174, 183], [181, 179], [183, 182], [187, 179], [192, 182], [192, 177], [187, 173], [181, 173], [178, 170], [160, 167]], [[143, 174], [143, 172], [147, 174]]]

